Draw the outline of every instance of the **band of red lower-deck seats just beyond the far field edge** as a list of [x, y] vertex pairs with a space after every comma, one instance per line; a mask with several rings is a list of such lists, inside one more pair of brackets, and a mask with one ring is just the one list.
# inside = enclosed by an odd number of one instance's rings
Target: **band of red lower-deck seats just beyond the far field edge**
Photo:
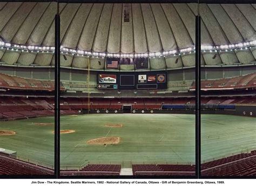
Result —
[[[131, 105], [132, 109], [162, 109], [163, 105], [190, 106], [194, 105], [193, 98], [166, 98], [166, 99], [142, 99], [142, 98], [116, 98], [103, 99], [91, 98], [90, 104], [87, 98], [62, 98], [60, 105], [61, 114], [77, 114], [81, 109], [122, 109], [123, 105]], [[256, 99], [252, 97], [235, 98], [201, 98], [201, 104], [212, 105], [255, 105]], [[179, 109], [179, 107], [178, 107]], [[54, 114], [54, 98], [24, 98], [24, 97], [0, 97], [0, 119], [22, 119], [36, 116]]]

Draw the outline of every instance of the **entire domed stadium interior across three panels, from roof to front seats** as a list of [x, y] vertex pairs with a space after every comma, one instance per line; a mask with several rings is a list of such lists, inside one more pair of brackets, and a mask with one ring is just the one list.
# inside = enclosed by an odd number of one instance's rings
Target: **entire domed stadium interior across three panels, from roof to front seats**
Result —
[[[58, 8], [58, 9], [57, 9]], [[256, 4], [0, 2], [0, 175], [256, 175]]]

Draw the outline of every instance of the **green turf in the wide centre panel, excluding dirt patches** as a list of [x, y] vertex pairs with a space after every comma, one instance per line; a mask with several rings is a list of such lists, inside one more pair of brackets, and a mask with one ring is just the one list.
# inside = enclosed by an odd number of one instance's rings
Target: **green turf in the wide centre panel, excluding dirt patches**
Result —
[[[106, 123], [122, 123], [108, 128]], [[60, 135], [62, 165], [83, 162], [192, 161], [194, 162], [194, 116], [178, 114], [90, 114], [63, 117]], [[121, 137], [119, 144], [91, 145], [98, 137]]]

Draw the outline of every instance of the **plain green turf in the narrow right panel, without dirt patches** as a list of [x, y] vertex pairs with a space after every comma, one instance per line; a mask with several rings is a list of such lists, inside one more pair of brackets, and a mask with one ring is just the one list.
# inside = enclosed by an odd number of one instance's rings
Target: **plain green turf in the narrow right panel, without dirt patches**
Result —
[[256, 149], [256, 118], [201, 116], [201, 162]]

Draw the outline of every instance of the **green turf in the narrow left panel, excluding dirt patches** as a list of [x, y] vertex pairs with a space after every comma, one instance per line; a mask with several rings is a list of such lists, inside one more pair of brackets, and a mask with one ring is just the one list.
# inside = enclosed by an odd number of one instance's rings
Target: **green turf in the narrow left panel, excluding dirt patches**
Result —
[[54, 123], [54, 118], [0, 122], [0, 130], [16, 132], [11, 136], [0, 136], [0, 148], [17, 151], [18, 156], [54, 164], [54, 125], [36, 126], [36, 122]]

